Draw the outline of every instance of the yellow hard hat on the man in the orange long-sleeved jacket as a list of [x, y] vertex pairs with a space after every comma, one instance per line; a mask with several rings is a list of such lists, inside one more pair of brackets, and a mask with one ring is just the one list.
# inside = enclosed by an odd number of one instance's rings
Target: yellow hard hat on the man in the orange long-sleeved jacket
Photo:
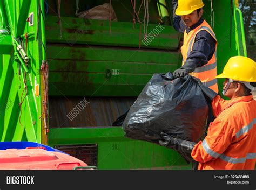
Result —
[[223, 73], [216, 78], [227, 78], [235, 81], [256, 82], [256, 63], [244, 56], [235, 56], [228, 60]]

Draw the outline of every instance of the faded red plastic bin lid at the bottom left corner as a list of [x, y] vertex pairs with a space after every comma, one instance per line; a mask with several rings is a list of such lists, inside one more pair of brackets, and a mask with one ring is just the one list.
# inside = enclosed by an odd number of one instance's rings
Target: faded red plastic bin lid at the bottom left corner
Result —
[[61, 152], [44, 149], [0, 150], [0, 170], [73, 170], [86, 166], [83, 161]]

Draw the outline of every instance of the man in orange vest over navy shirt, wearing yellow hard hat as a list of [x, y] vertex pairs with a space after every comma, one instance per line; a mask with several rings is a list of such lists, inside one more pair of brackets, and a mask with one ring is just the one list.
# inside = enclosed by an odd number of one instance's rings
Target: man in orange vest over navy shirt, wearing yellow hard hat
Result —
[[173, 27], [184, 33], [182, 67], [174, 71], [174, 78], [190, 73], [218, 93], [217, 39], [211, 26], [202, 18], [201, 0], [173, 0]]

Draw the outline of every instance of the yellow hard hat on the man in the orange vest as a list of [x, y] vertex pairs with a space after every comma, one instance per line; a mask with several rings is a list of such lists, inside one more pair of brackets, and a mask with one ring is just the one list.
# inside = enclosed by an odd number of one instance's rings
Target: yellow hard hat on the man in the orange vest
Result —
[[178, 0], [178, 8], [175, 13], [176, 15], [189, 15], [204, 5], [202, 0]]

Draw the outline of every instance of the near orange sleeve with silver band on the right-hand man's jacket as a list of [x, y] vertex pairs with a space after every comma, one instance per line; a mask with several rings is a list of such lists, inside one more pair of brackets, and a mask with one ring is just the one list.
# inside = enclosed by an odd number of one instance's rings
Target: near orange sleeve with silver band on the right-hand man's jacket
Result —
[[192, 158], [200, 163], [219, 158], [232, 142], [235, 135], [234, 125], [236, 122], [233, 116], [215, 119], [208, 129], [208, 135], [204, 141], [200, 141], [194, 146], [191, 153]]

